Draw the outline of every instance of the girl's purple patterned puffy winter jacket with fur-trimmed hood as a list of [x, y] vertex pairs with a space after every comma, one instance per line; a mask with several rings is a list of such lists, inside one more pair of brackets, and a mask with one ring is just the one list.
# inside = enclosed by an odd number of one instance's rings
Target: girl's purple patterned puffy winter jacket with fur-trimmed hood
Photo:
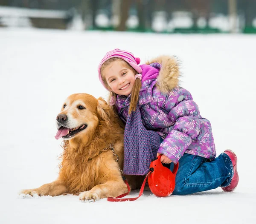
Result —
[[[185, 152], [214, 159], [211, 124], [200, 115], [189, 91], [178, 85], [180, 73], [175, 57], [161, 56], [148, 64], [152, 66], [140, 65], [143, 79], [139, 107], [145, 128], [156, 131], [164, 139], [158, 153], [175, 164]], [[129, 105], [130, 96], [117, 96], [116, 108], [125, 122]]]

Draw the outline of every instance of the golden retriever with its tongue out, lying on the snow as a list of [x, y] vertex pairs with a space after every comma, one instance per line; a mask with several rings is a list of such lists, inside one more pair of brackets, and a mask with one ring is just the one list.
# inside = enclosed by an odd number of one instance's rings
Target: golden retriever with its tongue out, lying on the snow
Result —
[[[79, 194], [81, 201], [127, 193], [128, 187], [119, 171], [124, 161], [124, 128], [107, 102], [89, 94], [73, 94], [65, 100], [56, 120], [55, 138], [64, 139], [59, 176], [49, 184], [20, 193]], [[130, 177], [129, 182], [132, 189], [138, 188], [136, 180], [131, 181]]]

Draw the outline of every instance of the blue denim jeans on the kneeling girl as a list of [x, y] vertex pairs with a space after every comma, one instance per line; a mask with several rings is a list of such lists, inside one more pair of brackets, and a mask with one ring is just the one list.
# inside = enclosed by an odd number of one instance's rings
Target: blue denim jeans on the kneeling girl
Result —
[[[166, 166], [167, 164], [165, 164]], [[172, 170], [173, 163], [170, 165]], [[188, 153], [179, 160], [173, 195], [186, 195], [217, 187], [226, 187], [233, 177], [233, 165], [226, 153], [209, 161]]]

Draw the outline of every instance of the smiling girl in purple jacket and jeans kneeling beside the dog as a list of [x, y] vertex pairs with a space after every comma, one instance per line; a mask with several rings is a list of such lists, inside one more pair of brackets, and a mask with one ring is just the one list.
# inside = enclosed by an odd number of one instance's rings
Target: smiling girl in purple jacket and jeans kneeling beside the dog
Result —
[[217, 187], [233, 191], [239, 182], [236, 154], [225, 150], [215, 158], [211, 124], [200, 115], [189, 91], [178, 85], [180, 72], [175, 57], [162, 56], [139, 64], [140, 58], [115, 49], [99, 63], [99, 80], [110, 91], [110, 105], [124, 122], [139, 111], [146, 130], [158, 134], [161, 144], [157, 156], [162, 155], [161, 162], [179, 162], [173, 194]]

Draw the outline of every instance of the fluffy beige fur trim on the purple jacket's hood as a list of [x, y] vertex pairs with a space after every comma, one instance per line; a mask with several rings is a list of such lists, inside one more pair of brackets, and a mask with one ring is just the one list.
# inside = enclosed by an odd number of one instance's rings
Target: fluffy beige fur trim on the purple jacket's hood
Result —
[[161, 65], [156, 84], [161, 92], [167, 93], [179, 85], [180, 61], [177, 57], [162, 55], [146, 62], [147, 65], [152, 63], [159, 63]]

